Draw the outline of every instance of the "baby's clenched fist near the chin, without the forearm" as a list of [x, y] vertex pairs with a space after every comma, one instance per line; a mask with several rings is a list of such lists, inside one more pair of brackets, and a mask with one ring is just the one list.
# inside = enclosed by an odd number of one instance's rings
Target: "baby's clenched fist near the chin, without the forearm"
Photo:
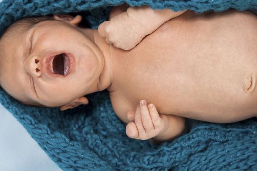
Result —
[[98, 33], [106, 43], [123, 50], [133, 49], [147, 35], [148, 30], [134, 18], [123, 12], [104, 21], [98, 27]]

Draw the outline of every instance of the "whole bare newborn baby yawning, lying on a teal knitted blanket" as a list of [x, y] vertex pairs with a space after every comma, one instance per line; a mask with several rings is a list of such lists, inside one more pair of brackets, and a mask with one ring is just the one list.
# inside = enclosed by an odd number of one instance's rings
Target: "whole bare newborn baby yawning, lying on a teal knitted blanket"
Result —
[[153, 142], [183, 133], [184, 118], [256, 116], [254, 14], [123, 5], [110, 18], [98, 30], [79, 27], [79, 15], [17, 21], [0, 39], [1, 86], [24, 104], [61, 110], [107, 89], [127, 135]]

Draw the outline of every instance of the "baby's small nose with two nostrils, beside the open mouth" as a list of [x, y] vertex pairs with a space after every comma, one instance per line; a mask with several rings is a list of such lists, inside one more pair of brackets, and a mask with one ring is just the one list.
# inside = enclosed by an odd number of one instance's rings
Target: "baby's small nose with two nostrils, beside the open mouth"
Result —
[[25, 70], [32, 76], [40, 77], [42, 72], [39, 56], [28, 57], [25, 61]]

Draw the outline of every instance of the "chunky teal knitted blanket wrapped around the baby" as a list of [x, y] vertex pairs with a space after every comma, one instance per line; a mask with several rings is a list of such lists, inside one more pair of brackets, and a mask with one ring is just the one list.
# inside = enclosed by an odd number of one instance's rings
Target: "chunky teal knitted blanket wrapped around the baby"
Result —
[[[107, 20], [111, 6], [150, 5], [154, 9], [197, 12], [257, 9], [257, 0], [3, 0], [0, 35], [28, 16], [82, 12], [92, 28]], [[232, 124], [199, 122], [173, 142], [152, 145], [130, 139], [113, 112], [107, 91], [88, 95], [90, 103], [64, 112], [20, 104], [2, 89], [0, 102], [65, 171], [257, 170], [257, 120]]]

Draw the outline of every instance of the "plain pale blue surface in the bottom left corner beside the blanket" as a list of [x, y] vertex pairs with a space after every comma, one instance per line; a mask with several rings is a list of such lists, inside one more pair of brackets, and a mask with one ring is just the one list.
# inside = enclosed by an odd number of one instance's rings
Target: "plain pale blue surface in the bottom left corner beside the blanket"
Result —
[[0, 171], [62, 171], [1, 104]]

